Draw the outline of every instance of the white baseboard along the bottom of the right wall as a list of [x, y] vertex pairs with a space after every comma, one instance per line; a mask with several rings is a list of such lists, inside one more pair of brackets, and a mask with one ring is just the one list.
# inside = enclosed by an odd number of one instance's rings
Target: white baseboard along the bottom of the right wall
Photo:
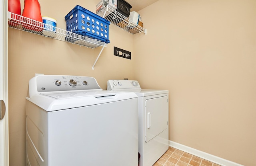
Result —
[[189, 154], [192, 154], [194, 156], [198, 156], [198, 157], [203, 158], [205, 160], [208, 160], [210, 162], [214, 162], [214, 163], [219, 164], [221, 166], [243, 166], [243, 165], [238, 164], [236, 162], [232, 162], [232, 161], [226, 160], [224, 158], [220, 158], [218, 156], [214, 156], [212, 154], [202, 152], [200, 150], [197, 150], [197, 149], [194, 149], [194, 148], [176, 143], [174, 141], [169, 140], [169, 146], [171, 146], [173, 148], [176, 148], [176, 149], [179, 149], [179, 150], [182, 150], [182, 151], [187, 152]]

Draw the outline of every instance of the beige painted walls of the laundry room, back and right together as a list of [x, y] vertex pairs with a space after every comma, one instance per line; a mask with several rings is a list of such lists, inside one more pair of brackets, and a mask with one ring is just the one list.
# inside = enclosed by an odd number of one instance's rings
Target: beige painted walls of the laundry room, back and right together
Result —
[[[96, 6], [95, 0], [39, 2], [42, 15], [62, 29], [74, 6], [92, 12]], [[26, 164], [25, 97], [35, 73], [92, 76], [102, 89], [108, 79], [122, 78], [167, 89], [171, 141], [256, 165], [255, 2], [159, 0], [139, 12], [147, 35], [110, 25], [111, 43], [94, 70], [101, 47], [9, 28], [10, 165]], [[114, 56], [114, 46], [131, 51], [132, 60]]]

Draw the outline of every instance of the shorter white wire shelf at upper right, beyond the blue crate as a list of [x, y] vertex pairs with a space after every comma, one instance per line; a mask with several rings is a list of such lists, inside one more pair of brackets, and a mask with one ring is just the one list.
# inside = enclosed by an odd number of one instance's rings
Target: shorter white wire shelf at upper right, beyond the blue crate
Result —
[[103, 8], [100, 12], [98, 12], [97, 15], [101, 16], [102, 18], [105, 18], [106, 20], [110, 21], [111, 23], [122, 28], [125, 31], [128, 31], [129, 33], [147, 33], [147, 29], [144, 29], [137, 23], [132, 22], [129, 18], [123, 16], [122, 14], [120, 14], [108, 5], [105, 8]]

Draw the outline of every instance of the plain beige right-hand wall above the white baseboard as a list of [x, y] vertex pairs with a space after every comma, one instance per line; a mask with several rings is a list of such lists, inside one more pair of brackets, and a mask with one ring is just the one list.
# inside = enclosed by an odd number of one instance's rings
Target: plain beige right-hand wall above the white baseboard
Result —
[[256, 1], [159, 0], [134, 37], [142, 88], [170, 92], [169, 139], [256, 165]]

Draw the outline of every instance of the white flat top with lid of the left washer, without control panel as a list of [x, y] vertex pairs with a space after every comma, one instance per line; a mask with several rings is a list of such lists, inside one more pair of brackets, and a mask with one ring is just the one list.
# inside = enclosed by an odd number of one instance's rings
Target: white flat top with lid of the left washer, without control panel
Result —
[[105, 104], [138, 98], [133, 92], [101, 91], [72, 91], [58, 93], [41, 93], [26, 100], [38, 105], [46, 111], [58, 111], [90, 105]]

